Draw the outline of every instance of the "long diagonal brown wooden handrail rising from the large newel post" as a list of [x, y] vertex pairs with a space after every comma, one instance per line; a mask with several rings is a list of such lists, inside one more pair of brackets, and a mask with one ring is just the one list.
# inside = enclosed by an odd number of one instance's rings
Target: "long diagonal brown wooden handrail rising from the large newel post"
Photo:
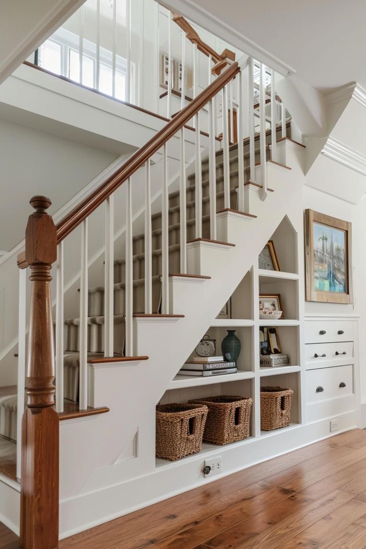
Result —
[[[89, 194], [85, 200], [82, 200], [73, 210], [67, 214], [57, 225], [57, 243], [59, 244], [68, 234], [80, 225], [95, 209], [100, 206], [120, 185], [136, 172], [139, 167], [151, 158], [178, 130], [180, 130], [188, 120], [190, 120], [198, 111], [216, 96], [235, 75], [240, 71], [237, 62], [234, 62], [217, 77], [204, 91], [202, 91], [193, 101], [184, 107], [177, 116], [174, 116], [170, 122], [164, 126], [154, 137], [151, 137], [143, 147], [140, 147], [129, 159], [102, 183], [95, 191]], [[25, 267], [26, 263], [21, 262], [23, 258], [18, 257], [18, 265]]]

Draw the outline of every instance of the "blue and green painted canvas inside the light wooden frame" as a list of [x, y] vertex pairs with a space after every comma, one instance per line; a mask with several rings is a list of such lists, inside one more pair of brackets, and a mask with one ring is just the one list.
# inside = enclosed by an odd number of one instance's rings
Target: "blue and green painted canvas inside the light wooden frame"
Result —
[[346, 293], [346, 232], [313, 223], [314, 289]]

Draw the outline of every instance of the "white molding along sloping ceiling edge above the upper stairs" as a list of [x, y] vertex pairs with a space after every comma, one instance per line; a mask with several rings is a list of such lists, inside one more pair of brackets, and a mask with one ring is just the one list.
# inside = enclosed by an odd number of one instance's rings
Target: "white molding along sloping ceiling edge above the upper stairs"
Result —
[[214, 35], [221, 37], [221, 40], [240, 49], [246, 55], [251, 55], [256, 60], [279, 72], [279, 74], [283, 76], [295, 74], [296, 71], [291, 66], [269, 53], [266, 49], [258, 46], [258, 44], [244, 36], [238, 30], [223, 23], [221, 19], [201, 8], [193, 0], [160, 0], [159, 3], [167, 9], [181, 13], [187, 19], [202, 27], [202, 29], [206, 29]]

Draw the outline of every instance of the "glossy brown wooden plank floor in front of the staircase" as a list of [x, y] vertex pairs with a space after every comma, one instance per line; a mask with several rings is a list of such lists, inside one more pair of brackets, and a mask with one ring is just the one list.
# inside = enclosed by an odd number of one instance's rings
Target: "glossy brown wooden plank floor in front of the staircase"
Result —
[[[0, 549], [16, 545], [2, 544]], [[14, 544], [14, 540], [8, 540]], [[366, 549], [355, 429], [76, 534], [60, 549]]]

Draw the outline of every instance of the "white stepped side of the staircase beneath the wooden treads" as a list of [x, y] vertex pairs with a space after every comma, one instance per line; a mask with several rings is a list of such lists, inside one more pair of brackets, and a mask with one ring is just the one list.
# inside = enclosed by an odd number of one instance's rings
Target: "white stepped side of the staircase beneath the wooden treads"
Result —
[[[139, 436], [148, 436], [151, 439], [150, 447], [154, 447], [155, 405], [209, 328], [212, 319], [257, 261], [258, 254], [275, 228], [299, 203], [304, 181], [298, 162], [300, 153], [296, 151], [295, 155], [290, 151], [290, 154], [293, 161], [291, 170], [267, 163], [268, 186], [274, 192], [261, 202], [256, 218], [248, 222], [238, 219], [238, 216], [227, 216], [227, 231], [234, 247], [205, 242], [196, 247], [201, 272], [195, 274], [211, 278], [199, 283], [197, 279], [172, 279], [173, 310], [184, 317], [135, 319], [134, 354], [147, 355], [149, 359], [125, 365], [102, 365], [96, 374], [94, 371], [94, 377], [91, 376], [91, 379], [94, 378], [91, 404], [109, 406], [110, 412], [87, 421], [61, 423], [61, 533], [70, 534], [103, 522], [100, 506], [99, 509], [95, 509], [98, 505], [94, 506], [94, 512], [91, 505], [87, 505], [87, 511], [83, 509], [86, 498], [93, 501], [95, 497], [97, 503], [102, 497], [101, 491], [108, 486], [113, 487], [117, 497], [113, 501], [103, 499], [106, 504], [104, 520], [123, 514], [121, 509], [129, 507], [123, 501], [125, 466], [119, 464], [118, 458], [142, 426], [143, 433], [140, 431]], [[289, 161], [290, 155], [286, 157], [286, 162]], [[188, 264], [188, 268], [189, 272], [193, 272], [192, 265]], [[140, 466], [136, 469], [136, 477], [153, 474], [154, 452], [137, 457], [140, 458]]]

